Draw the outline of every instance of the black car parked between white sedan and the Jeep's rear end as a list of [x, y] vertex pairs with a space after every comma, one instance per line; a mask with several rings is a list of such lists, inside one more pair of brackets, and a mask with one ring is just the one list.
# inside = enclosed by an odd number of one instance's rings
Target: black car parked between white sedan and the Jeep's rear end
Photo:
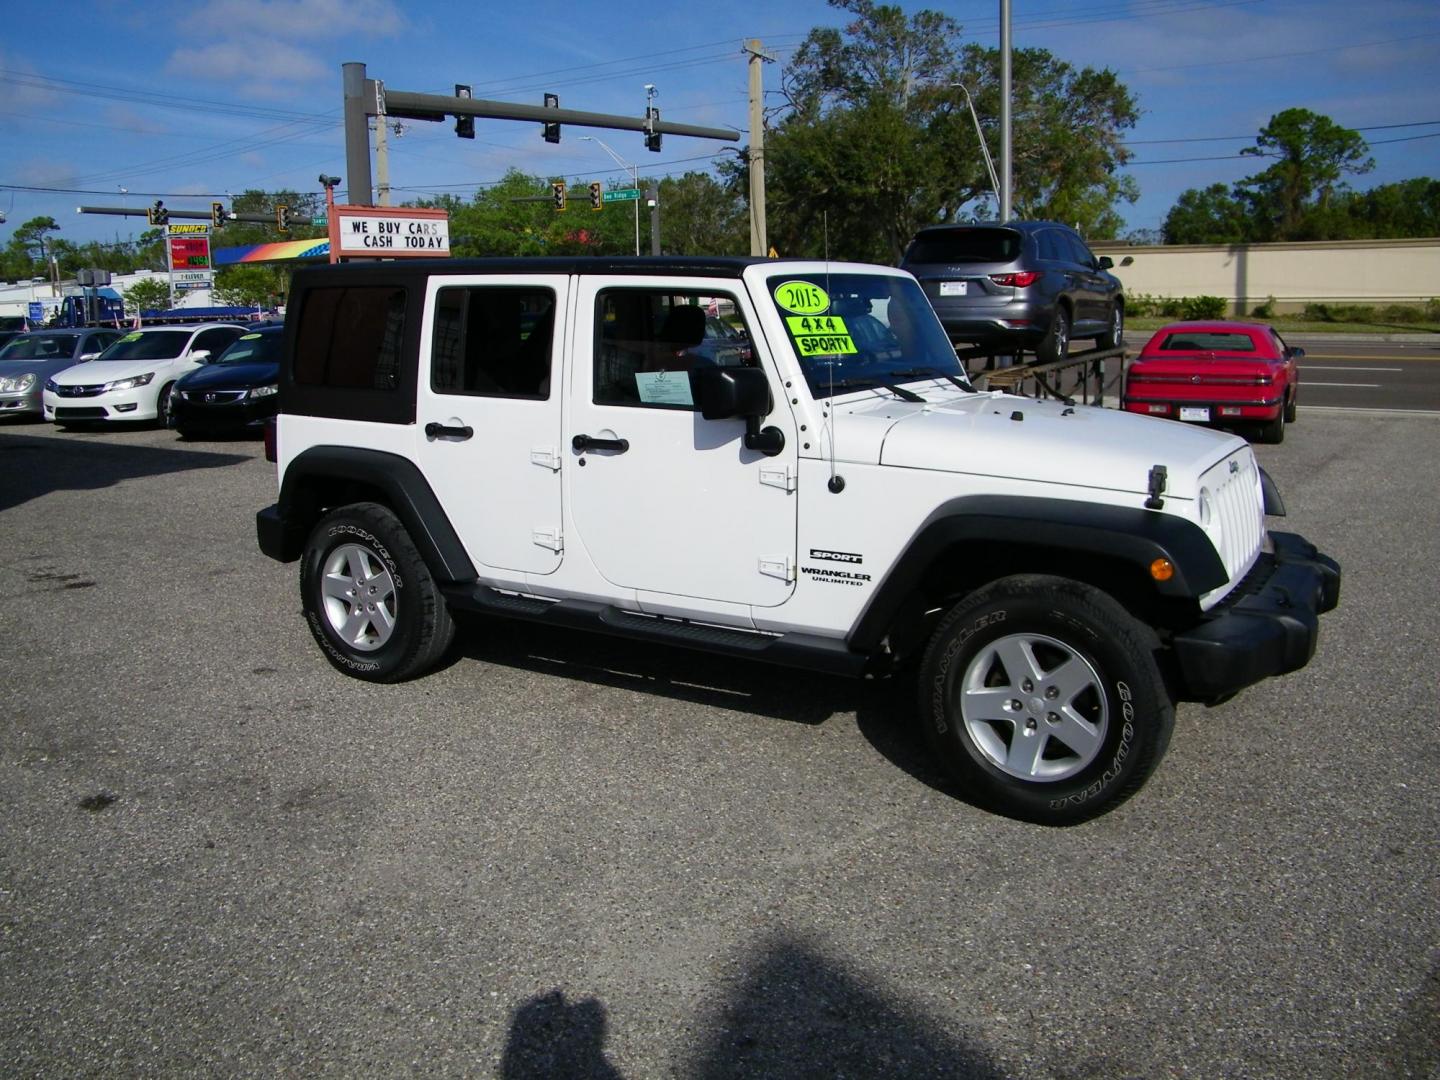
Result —
[[209, 432], [262, 431], [279, 403], [279, 353], [285, 327], [240, 334], [170, 395], [173, 426], [187, 439]]

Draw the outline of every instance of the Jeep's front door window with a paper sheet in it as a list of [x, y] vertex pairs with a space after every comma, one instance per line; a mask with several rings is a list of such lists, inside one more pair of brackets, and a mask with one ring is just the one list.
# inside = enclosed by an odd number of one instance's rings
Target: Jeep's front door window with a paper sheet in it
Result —
[[734, 297], [714, 292], [603, 289], [595, 310], [595, 403], [694, 409], [691, 367], [752, 366], [747, 347], [706, 337], [707, 310], [726, 301], [739, 311]]

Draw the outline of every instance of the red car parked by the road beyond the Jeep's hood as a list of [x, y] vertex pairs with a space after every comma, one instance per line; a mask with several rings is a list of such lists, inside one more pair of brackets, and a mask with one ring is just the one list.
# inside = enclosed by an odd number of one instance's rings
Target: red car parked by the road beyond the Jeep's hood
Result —
[[1172, 323], [1130, 363], [1120, 403], [1191, 423], [1259, 423], [1261, 442], [1282, 442], [1295, 422], [1302, 356], [1263, 323]]

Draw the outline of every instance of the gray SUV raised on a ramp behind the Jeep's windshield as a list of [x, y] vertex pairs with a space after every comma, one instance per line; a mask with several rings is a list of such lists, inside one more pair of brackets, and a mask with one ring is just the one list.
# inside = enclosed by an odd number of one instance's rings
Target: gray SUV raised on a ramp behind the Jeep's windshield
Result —
[[1125, 334], [1125, 295], [1080, 235], [1058, 222], [933, 225], [900, 262], [920, 279], [950, 341], [1058, 360], [1071, 337], [1102, 348]]

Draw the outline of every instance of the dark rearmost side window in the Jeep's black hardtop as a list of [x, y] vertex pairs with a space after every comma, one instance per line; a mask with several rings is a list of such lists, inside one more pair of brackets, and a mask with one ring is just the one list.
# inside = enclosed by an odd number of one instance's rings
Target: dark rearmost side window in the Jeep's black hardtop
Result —
[[397, 285], [311, 289], [295, 346], [295, 382], [393, 390], [403, 331], [405, 289]]

